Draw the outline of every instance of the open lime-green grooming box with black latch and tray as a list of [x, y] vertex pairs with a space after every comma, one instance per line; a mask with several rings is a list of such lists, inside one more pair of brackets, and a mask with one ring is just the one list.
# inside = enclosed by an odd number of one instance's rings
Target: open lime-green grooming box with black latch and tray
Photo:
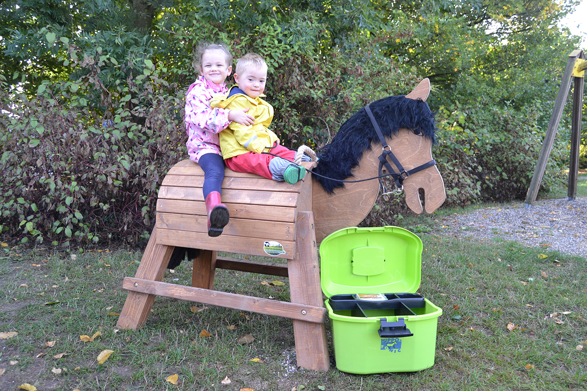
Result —
[[415, 292], [422, 242], [400, 227], [349, 227], [320, 246], [336, 368], [415, 372], [434, 365], [441, 308]]

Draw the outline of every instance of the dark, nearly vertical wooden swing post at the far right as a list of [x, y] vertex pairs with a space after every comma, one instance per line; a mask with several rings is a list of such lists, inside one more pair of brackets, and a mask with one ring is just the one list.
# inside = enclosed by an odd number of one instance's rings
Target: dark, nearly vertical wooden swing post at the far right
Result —
[[[580, 59], [585, 58], [581, 52]], [[581, 64], [582, 66], [585, 63]], [[575, 67], [575, 86], [573, 88], [573, 114], [571, 117], [571, 162], [569, 163], [569, 185], [566, 195], [571, 201], [577, 196], [577, 177], [579, 176], [579, 149], [581, 145], [581, 117], [583, 111], [583, 74], [582, 69]]]

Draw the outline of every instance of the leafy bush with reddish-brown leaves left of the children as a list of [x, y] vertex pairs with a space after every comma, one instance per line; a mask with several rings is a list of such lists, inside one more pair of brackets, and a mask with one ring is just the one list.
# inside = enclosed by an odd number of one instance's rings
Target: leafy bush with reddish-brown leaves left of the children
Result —
[[5, 240], [69, 246], [148, 236], [158, 185], [185, 155], [183, 93], [150, 61], [128, 83], [104, 89], [99, 63], [86, 58], [88, 77], [46, 82], [30, 100], [1, 86]]

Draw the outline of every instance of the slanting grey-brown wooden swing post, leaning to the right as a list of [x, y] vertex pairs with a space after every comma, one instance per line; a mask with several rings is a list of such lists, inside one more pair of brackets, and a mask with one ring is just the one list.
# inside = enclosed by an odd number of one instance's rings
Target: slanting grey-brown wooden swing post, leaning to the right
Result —
[[552, 144], [554, 143], [556, 130], [558, 130], [558, 124], [561, 122], [562, 110], [565, 107], [566, 97], [568, 96], [569, 89], [571, 88], [573, 67], [575, 66], [577, 57], [579, 57], [581, 53], [582, 50], [573, 50], [573, 52], [571, 52], [569, 55], [568, 62], [566, 63], [565, 73], [562, 76], [561, 87], [558, 90], [558, 96], [556, 97], [554, 109], [552, 110], [552, 117], [550, 123], [548, 124], [548, 128], [546, 129], [546, 135], [544, 137], [544, 142], [542, 143], [542, 149], [538, 155], [538, 162], [536, 164], [536, 168], [534, 169], [534, 175], [532, 175], [532, 181], [530, 182], [530, 186], [528, 188], [524, 208], [531, 208], [538, 195], [538, 189], [540, 188], [542, 176], [544, 175], [544, 170], [546, 169], [546, 162], [548, 162], [548, 157], [552, 150]]

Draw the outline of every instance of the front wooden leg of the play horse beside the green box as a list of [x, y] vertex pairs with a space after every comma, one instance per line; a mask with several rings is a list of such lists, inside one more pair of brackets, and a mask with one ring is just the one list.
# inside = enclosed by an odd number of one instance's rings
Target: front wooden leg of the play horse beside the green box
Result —
[[[323, 307], [313, 225], [312, 212], [298, 213], [295, 257], [288, 261], [289, 290], [291, 302]], [[294, 320], [294, 338], [298, 366], [311, 370], [330, 368], [324, 322], [319, 324]]]

